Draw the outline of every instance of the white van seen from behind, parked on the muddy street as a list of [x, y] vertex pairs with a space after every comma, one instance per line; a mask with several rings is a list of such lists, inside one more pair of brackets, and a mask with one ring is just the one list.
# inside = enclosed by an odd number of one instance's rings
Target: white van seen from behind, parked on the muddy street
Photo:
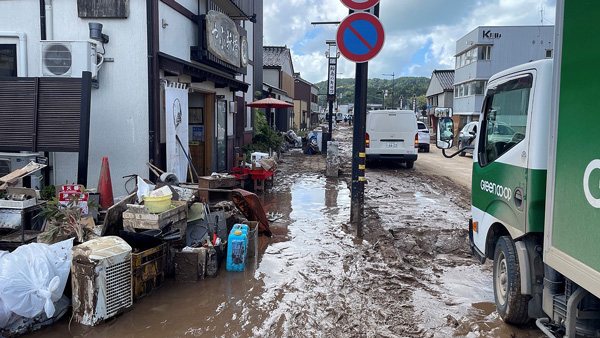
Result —
[[412, 110], [367, 112], [367, 161], [397, 161], [412, 168], [419, 151], [417, 118]]

